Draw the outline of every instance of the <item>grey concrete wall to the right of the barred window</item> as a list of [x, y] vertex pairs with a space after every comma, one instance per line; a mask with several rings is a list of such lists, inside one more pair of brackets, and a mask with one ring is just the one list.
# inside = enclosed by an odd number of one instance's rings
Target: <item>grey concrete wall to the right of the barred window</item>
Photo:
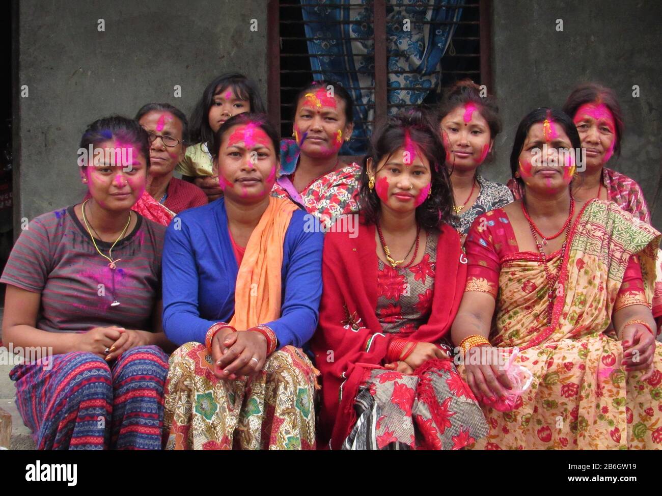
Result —
[[[536, 107], [561, 107], [579, 81], [618, 93], [626, 133], [608, 166], [634, 178], [662, 230], [662, 3], [659, 1], [493, 0], [493, 75], [504, 132], [484, 174], [505, 181], [514, 132]], [[557, 32], [556, 20], [563, 20]], [[632, 97], [639, 85], [640, 97]], [[656, 198], [657, 196], [657, 198]]]

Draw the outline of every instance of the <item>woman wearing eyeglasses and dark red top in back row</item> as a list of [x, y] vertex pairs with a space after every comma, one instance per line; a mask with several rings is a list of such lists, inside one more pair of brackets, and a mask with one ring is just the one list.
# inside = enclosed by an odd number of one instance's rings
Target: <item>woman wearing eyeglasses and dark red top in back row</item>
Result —
[[173, 177], [183, 159], [189, 123], [182, 111], [167, 103], [148, 103], [136, 114], [136, 121], [150, 136], [150, 167], [146, 193], [134, 205], [143, 217], [167, 226], [179, 212], [207, 205], [204, 191]]

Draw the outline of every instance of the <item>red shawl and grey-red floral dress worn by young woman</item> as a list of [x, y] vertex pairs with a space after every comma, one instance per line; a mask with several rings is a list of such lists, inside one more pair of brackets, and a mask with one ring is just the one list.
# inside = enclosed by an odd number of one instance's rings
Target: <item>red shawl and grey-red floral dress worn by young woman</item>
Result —
[[[384, 368], [394, 338], [440, 344], [459, 308], [466, 275], [459, 236], [444, 224], [434, 257], [431, 237], [420, 264], [379, 270], [373, 224], [359, 224], [354, 237], [326, 234], [320, 324], [311, 341], [322, 373], [320, 447], [448, 450], [487, 433], [451, 360], [428, 360], [411, 375]], [[402, 297], [409, 295], [404, 286], [418, 303]]]

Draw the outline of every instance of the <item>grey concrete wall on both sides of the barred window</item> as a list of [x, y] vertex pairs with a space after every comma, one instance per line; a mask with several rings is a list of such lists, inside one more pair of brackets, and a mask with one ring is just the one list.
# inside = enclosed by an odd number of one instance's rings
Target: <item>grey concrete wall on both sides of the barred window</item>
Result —
[[[657, 1], [493, 0], [493, 76], [504, 132], [487, 177], [505, 181], [514, 130], [540, 106], [560, 107], [579, 81], [616, 89], [624, 111], [622, 156], [610, 166], [639, 182], [653, 225], [662, 230], [661, 36]], [[216, 74], [239, 70], [266, 97], [267, 0], [22, 0], [20, 2], [20, 140], [15, 143], [15, 219], [78, 201], [75, 166], [85, 124], [134, 115], [166, 101], [189, 113]], [[97, 20], [105, 20], [105, 32]], [[250, 31], [258, 20], [258, 32]], [[563, 32], [555, 30], [563, 19]], [[173, 86], [182, 87], [181, 98]], [[632, 97], [639, 85], [641, 96]], [[17, 90], [18, 91], [18, 90]], [[657, 199], [655, 198], [657, 195]], [[18, 230], [17, 230], [18, 232]]]

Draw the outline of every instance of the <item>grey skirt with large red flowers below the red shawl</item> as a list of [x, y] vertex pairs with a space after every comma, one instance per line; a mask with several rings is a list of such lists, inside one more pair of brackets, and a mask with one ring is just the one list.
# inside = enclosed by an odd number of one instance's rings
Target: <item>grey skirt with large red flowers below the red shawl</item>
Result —
[[428, 360], [413, 375], [368, 372], [343, 450], [459, 450], [487, 434], [481, 407], [451, 360]]

